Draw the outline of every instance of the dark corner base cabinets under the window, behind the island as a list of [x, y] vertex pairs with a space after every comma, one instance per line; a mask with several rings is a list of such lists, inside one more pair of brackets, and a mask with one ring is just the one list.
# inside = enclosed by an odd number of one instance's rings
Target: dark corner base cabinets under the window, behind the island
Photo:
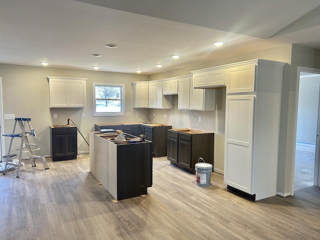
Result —
[[94, 130], [114, 129], [122, 130], [134, 136], [144, 134], [146, 140], [152, 141], [152, 156], [166, 156], [167, 149], [167, 130], [172, 126], [160, 123], [99, 123], [94, 124]]

